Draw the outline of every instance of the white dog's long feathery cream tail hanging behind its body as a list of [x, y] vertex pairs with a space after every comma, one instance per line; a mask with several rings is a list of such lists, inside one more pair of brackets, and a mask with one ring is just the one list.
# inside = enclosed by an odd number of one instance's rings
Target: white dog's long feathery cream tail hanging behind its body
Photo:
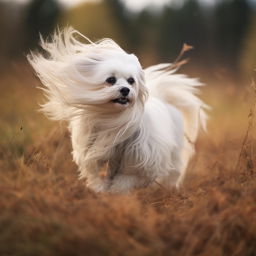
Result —
[[182, 151], [183, 167], [177, 181], [179, 186], [186, 173], [189, 159], [194, 154], [194, 143], [200, 128], [206, 130], [209, 106], [199, 99], [198, 87], [203, 84], [195, 78], [188, 78], [182, 74], [173, 74], [175, 70], [168, 70], [170, 63], [162, 63], [146, 68], [145, 78], [149, 88], [149, 95], [172, 104], [182, 112], [184, 119], [184, 150]]

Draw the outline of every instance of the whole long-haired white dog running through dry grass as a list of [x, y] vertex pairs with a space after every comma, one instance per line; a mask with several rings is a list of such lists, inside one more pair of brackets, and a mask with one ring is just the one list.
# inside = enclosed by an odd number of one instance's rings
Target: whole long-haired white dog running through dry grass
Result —
[[154, 181], [179, 186], [207, 120], [207, 106], [194, 95], [202, 84], [168, 71], [169, 63], [143, 70], [113, 40], [93, 43], [71, 27], [40, 44], [45, 54], [28, 60], [45, 85], [42, 110], [69, 122], [74, 161], [88, 186], [104, 193]]

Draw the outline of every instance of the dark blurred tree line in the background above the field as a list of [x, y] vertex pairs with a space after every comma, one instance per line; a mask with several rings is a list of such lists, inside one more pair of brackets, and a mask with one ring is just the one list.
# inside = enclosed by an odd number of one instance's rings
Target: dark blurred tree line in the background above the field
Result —
[[180, 9], [170, 4], [139, 13], [120, 0], [85, 2], [72, 9], [56, 0], [0, 2], [0, 62], [25, 60], [29, 49], [37, 47], [38, 32], [47, 36], [57, 24], [72, 25], [92, 40], [113, 38], [137, 54], [144, 67], [174, 61], [183, 43], [195, 47], [182, 67], [192, 76], [238, 81], [250, 77], [256, 65], [256, 11], [247, 0], [222, 0], [212, 8], [187, 0]]

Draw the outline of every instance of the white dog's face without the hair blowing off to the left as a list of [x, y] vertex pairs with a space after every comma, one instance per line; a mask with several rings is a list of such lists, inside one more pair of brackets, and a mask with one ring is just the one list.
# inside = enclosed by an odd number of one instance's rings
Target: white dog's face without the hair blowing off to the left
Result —
[[72, 64], [76, 76], [71, 80], [76, 80], [79, 87], [76, 92], [80, 94], [77, 103], [106, 110], [125, 110], [135, 103], [144, 107], [148, 89], [144, 71], [134, 54], [101, 47], [78, 54]]

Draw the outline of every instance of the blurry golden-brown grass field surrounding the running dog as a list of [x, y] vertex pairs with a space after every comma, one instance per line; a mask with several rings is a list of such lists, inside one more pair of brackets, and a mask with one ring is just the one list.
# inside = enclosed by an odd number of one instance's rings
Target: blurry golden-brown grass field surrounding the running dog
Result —
[[250, 83], [203, 88], [209, 132], [180, 191], [126, 196], [97, 194], [78, 180], [65, 124], [36, 111], [36, 85], [25, 64], [0, 75], [1, 256], [256, 255], [255, 122], [243, 144]]

